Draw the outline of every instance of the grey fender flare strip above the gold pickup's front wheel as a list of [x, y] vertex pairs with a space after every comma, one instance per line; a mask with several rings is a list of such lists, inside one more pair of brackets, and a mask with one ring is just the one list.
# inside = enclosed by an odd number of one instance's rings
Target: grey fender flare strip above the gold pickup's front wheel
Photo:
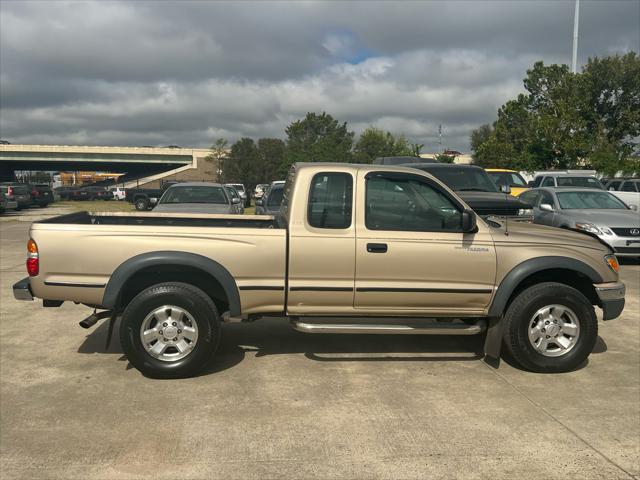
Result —
[[543, 270], [573, 270], [587, 276], [593, 283], [601, 283], [602, 277], [592, 267], [569, 257], [537, 257], [526, 260], [513, 268], [500, 282], [496, 296], [489, 308], [489, 317], [501, 317], [504, 308], [518, 284], [529, 275]]

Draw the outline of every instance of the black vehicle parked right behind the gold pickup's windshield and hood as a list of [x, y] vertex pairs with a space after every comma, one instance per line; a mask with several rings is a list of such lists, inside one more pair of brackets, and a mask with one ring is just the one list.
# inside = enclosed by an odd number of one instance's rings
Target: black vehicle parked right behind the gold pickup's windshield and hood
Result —
[[419, 163], [405, 165], [430, 173], [454, 190], [480, 216], [498, 215], [519, 220], [531, 219], [531, 206], [509, 195], [508, 187], [501, 192], [489, 174], [475, 165], [450, 163]]

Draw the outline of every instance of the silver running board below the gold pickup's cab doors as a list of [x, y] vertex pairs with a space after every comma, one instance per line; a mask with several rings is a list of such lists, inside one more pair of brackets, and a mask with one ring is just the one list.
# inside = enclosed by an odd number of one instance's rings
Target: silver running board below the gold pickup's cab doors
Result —
[[478, 335], [487, 324], [478, 320], [473, 324], [438, 322], [423, 325], [366, 325], [346, 323], [306, 323], [292, 320], [294, 330], [303, 333], [366, 333], [385, 335]]

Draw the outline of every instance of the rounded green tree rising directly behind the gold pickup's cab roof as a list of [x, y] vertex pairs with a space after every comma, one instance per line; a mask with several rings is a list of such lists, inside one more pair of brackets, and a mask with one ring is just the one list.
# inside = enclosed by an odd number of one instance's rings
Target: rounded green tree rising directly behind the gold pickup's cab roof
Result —
[[347, 122], [340, 123], [322, 112], [307, 113], [302, 120], [286, 130], [287, 148], [281, 168], [286, 172], [295, 162], [349, 162], [353, 147], [353, 132]]

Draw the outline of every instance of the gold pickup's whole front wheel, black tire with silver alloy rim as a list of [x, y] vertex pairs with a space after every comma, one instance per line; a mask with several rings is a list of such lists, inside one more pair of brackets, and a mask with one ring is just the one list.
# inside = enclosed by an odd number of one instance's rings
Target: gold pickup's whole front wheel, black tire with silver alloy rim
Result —
[[504, 316], [504, 344], [523, 368], [560, 373], [577, 368], [595, 346], [598, 321], [578, 290], [546, 282], [523, 290]]

